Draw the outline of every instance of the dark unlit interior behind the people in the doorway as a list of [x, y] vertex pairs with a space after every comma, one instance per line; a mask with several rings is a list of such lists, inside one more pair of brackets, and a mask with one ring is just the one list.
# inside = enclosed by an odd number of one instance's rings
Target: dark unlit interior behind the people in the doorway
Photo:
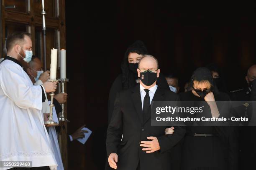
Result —
[[255, 12], [253, 1], [66, 0], [69, 133], [84, 123], [92, 130], [85, 145], [69, 146], [69, 169], [104, 169], [108, 94], [129, 45], [145, 42], [182, 90], [193, 70], [213, 62], [236, 90], [256, 63]]

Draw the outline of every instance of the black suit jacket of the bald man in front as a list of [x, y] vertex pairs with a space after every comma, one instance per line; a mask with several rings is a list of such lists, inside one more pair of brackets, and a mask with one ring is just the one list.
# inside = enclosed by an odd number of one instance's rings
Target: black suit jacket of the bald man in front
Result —
[[[176, 93], [157, 88], [154, 101], [179, 100]], [[107, 131], [107, 153], [118, 154], [118, 170], [136, 170], [138, 162], [141, 170], [173, 170], [174, 149], [185, 134], [184, 127], [175, 127], [172, 135], [165, 135], [166, 126], [151, 126], [150, 116], [143, 122], [140, 87], [120, 91], [115, 99], [113, 117]], [[121, 141], [123, 134], [123, 140]], [[160, 150], [146, 153], [140, 146], [148, 136], [158, 139]], [[178, 150], [179, 151], [179, 150]]]

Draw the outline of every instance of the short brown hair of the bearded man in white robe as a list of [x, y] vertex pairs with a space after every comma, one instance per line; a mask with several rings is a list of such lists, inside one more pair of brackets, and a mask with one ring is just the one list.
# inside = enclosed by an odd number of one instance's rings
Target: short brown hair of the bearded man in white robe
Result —
[[24, 41], [25, 35], [28, 37], [31, 36], [28, 32], [13, 32], [12, 34], [8, 35], [6, 40], [6, 50], [10, 50], [17, 42]]

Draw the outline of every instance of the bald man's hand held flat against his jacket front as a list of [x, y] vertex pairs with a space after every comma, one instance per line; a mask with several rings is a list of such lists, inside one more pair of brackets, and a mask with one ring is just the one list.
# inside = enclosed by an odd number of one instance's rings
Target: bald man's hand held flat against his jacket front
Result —
[[155, 151], [160, 150], [160, 145], [156, 137], [150, 136], [147, 137], [147, 139], [151, 141], [141, 141], [142, 144], [140, 146], [146, 147], [142, 148], [142, 150], [146, 150], [146, 153], [154, 153]]

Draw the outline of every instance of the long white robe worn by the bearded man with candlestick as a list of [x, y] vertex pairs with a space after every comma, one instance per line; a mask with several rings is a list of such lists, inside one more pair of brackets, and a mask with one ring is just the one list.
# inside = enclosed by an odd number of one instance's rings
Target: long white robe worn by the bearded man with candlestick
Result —
[[23, 68], [10, 60], [0, 64], [0, 110], [0, 161], [32, 161], [32, 167], [56, 169], [41, 112], [41, 86], [33, 86]]

